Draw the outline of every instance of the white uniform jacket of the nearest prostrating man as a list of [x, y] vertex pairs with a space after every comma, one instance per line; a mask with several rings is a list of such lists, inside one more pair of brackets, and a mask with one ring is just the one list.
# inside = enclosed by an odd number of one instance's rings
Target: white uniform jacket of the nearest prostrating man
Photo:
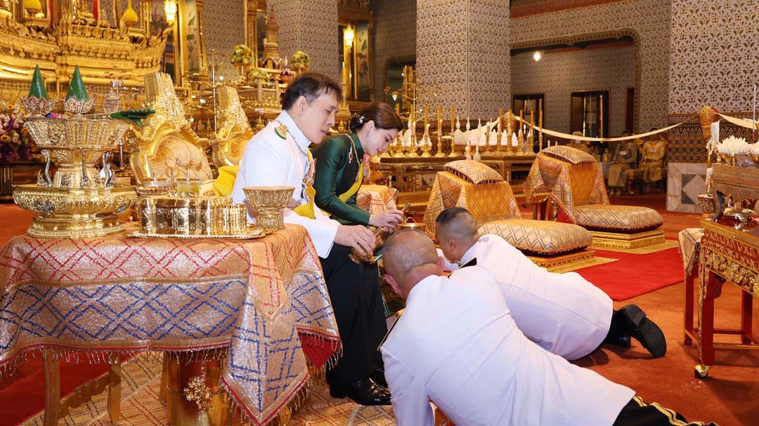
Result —
[[546, 352], [518, 329], [487, 268], [425, 277], [381, 347], [396, 424], [610, 426], [635, 392]]

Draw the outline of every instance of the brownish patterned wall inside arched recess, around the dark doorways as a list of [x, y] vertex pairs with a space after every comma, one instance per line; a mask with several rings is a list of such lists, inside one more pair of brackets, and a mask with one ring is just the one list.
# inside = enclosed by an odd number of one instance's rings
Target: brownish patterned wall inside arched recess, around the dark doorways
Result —
[[[625, 99], [635, 87], [635, 47], [544, 52], [534, 61], [529, 52], [512, 56], [512, 93], [545, 93], [543, 124], [569, 133], [571, 93], [609, 90], [609, 136], [625, 130]], [[518, 113], [518, 111], [517, 111]], [[536, 118], [537, 120], [537, 118]]]

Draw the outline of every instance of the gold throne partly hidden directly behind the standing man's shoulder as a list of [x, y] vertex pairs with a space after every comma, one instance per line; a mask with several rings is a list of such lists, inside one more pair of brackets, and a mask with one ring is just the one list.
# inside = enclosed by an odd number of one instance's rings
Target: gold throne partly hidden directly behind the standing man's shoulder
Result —
[[235, 167], [240, 164], [245, 145], [253, 137], [254, 131], [247, 121], [237, 89], [224, 86], [217, 94], [222, 122], [211, 145], [213, 163], [216, 168]]

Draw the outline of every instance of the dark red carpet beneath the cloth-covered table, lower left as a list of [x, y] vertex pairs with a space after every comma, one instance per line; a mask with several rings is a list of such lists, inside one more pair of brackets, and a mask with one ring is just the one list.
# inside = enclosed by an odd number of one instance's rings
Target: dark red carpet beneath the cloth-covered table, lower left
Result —
[[[93, 364], [84, 357], [83, 364], [61, 361], [61, 398], [77, 386], [106, 374], [109, 365]], [[0, 426], [20, 424], [45, 409], [45, 375], [42, 359], [29, 357], [16, 374], [0, 381]]]

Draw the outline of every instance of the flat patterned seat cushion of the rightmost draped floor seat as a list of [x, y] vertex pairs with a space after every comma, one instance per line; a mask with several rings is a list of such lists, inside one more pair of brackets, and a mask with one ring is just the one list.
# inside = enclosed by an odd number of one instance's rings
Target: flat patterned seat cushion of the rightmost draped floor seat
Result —
[[635, 233], [660, 227], [662, 217], [636, 205], [587, 204], [575, 205], [575, 221], [588, 230]]

